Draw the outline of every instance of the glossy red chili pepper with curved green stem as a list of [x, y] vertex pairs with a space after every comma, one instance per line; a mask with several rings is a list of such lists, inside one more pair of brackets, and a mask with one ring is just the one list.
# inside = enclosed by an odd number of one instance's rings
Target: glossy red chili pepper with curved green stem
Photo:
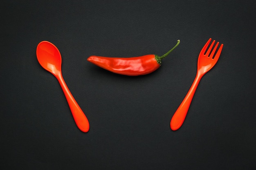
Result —
[[130, 76], [145, 75], [157, 70], [161, 65], [161, 60], [171, 53], [179, 44], [180, 40], [177, 40], [177, 44], [161, 57], [154, 54], [127, 58], [92, 55], [87, 61], [117, 74]]

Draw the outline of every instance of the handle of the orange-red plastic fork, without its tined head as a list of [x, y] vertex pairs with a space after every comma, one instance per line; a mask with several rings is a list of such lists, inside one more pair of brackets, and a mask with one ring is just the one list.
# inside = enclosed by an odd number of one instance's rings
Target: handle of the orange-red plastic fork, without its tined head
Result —
[[178, 130], [182, 126], [186, 118], [186, 114], [188, 113], [189, 106], [195, 94], [196, 88], [198, 87], [198, 84], [201, 78], [202, 78], [202, 75], [197, 73], [193, 84], [191, 85], [188, 93], [186, 94], [186, 97], [183, 99], [182, 103], [177, 108], [176, 112], [174, 113], [171, 119], [171, 122], [170, 122], [171, 130]]

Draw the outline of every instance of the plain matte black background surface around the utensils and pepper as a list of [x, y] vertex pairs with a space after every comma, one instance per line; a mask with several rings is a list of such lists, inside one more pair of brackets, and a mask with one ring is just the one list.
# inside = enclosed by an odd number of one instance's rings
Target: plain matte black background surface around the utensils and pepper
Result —
[[[256, 168], [255, 0], [4, 0], [1, 169], [216, 170]], [[224, 44], [183, 126], [170, 120], [209, 38]], [[162, 55], [149, 75], [117, 75], [90, 55]], [[36, 59], [47, 40], [90, 121], [81, 132], [57, 79]]]

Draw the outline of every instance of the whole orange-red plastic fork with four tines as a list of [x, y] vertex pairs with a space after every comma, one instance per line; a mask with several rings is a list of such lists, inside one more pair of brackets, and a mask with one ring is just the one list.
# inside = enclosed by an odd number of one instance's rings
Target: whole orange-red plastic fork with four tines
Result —
[[[218, 59], [220, 57], [220, 53], [222, 51], [223, 44], [220, 45], [220, 48], [218, 49], [216, 55], [214, 56], [219, 42], [216, 43], [216, 46], [213, 48], [212, 51], [211, 51], [211, 49], [215, 43], [215, 40], [213, 40], [212, 44], [210, 45], [209, 49], [207, 50], [210, 42], [211, 42], [211, 38], [207, 41], [207, 43], [204, 45], [204, 47], [202, 48], [202, 50], [199, 54], [198, 69], [197, 69], [197, 73], [196, 73], [194, 82], [191, 85], [191, 88], [189, 89], [189, 92], [187, 93], [186, 97], [183, 99], [182, 103], [177, 108], [176, 112], [174, 113], [174, 115], [171, 119], [170, 126], [171, 126], [172, 130], [177, 130], [182, 126], [182, 124], [185, 120], [186, 114], [189, 110], [189, 106], [191, 104], [193, 96], [195, 94], [195, 90], [200, 82], [200, 79], [203, 77], [203, 75], [205, 73], [207, 73], [209, 70], [211, 70], [211, 68], [213, 68], [213, 66], [216, 64], [216, 62], [218, 61]], [[206, 50], [207, 50], [207, 52], [206, 52]]]

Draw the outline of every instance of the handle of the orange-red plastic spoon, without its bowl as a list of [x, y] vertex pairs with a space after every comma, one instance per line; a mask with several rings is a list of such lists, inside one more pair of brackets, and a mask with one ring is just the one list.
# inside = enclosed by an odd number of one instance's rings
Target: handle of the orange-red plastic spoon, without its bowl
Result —
[[74, 99], [73, 95], [71, 94], [70, 90], [67, 87], [67, 84], [65, 83], [62, 74], [60, 74], [57, 77], [59, 83], [61, 84], [61, 88], [65, 94], [65, 97], [67, 99], [67, 103], [70, 106], [71, 113], [74, 117], [74, 120], [76, 122], [76, 126], [82, 131], [82, 132], [88, 132], [90, 125], [87, 117], [83, 113], [83, 110], [80, 108], [80, 106], [77, 104], [76, 100]]

